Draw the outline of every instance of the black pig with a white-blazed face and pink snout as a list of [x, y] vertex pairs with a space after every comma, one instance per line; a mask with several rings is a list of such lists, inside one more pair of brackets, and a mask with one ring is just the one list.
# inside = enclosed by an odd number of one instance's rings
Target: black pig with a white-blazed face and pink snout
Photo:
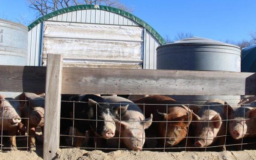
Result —
[[[64, 99], [64, 98], [63, 98]], [[67, 97], [65, 97], [67, 99]], [[118, 116], [118, 113], [125, 113], [128, 105], [122, 106], [112, 106], [100, 96], [96, 95], [75, 95], [69, 98], [70, 101], [75, 101], [74, 111], [73, 102], [62, 103], [61, 110], [67, 109], [66, 114], [61, 115], [62, 118], [74, 118], [75, 119], [87, 119], [87, 120], [75, 120], [76, 126], [76, 143], [75, 147], [80, 148], [83, 143], [83, 137], [86, 131], [92, 131], [98, 137], [103, 139], [109, 139], [115, 136], [116, 124], [114, 119]], [[87, 102], [87, 103], [77, 103], [77, 102]], [[121, 112], [119, 112], [121, 110]], [[71, 117], [70, 117], [71, 116]], [[96, 121], [99, 120], [99, 121]], [[62, 123], [62, 122], [61, 122]], [[67, 127], [67, 125], [61, 125]], [[61, 128], [65, 131], [65, 128]], [[103, 142], [105, 143], [105, 142]]]

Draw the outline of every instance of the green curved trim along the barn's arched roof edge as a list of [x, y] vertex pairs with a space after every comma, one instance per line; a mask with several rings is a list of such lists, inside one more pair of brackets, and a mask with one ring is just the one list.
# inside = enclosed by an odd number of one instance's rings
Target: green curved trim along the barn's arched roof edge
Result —
[[64, 9], [60, 9], [54, 12], [51, 12], [47, 15], [44, 15], [43, 17], [38, 18], [37, 20], [35, 20], [33, 23], [31, 23], [28, 28], [29, 31], [34, 28], [36, 25], [38, 25], [39, 23], [42, 23], [45, 20], [48, 20], [49, 18], [55, 17], [57, 15], [61, 15], [67, 12], [73, 12], [73, 11], [79, 11], [79, 10], [85, 10], [85, 9], [99, 9], [99, 10], [104, 10], [104, 11], [109, 11], [109, 12], [113, 12], [113, 13], [117, 13], [119, 15], [123, 15], [125, 17], [130, 18], [131, 20], [134, 20], [136, 23], [140, 24], [141, 26], [145, 27], [145, 29], [148, 30], [148, 32], [150, 32], [152, 35], [154, 35], [154, 37], [160, 42], [160, 44], [166, 44], [166, 41], [161, 37], [161, 35], [159, 33], [157, 33], [156, 30], [154, 30], [148, 23], [146, 23], [145, 21], [141, 20], [140, 18], [132, 15], [131, 13], [125, 12], [121, 9], [116, 9], [113, 7], [108, 7], [108, 6], [101, 6], [101, 5], [79, 5], [79, 6], [70, 6]]

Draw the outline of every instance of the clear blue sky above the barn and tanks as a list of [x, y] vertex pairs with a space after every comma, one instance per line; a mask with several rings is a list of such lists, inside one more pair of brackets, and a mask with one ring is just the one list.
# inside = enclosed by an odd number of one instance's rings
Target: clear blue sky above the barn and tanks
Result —
[[[256, 32], [256, 0], [120, 0], [133, 7], [132, 14], [151, 25], [162, 37], [177, 32], [218, 41], [250, 39]], [[0, 18], [35, 20], [26, 0], [0, 0]]]

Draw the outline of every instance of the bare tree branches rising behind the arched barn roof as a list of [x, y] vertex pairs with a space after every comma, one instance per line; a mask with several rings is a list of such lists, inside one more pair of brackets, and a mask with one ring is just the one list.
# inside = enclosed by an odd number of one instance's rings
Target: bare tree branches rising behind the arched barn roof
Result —
[[127, 7], [121, 3], [120, 0], [27, 0], [29, 8], [34, 9], [37, 17], [47, 15], [50, 12], [58, 9], [63, 9], [69, 6], [76, 6], [82, 4], [91, 5], [105, 5], [118, 9], [122, 9], [126, 12], [133, 12], [132, 7]]

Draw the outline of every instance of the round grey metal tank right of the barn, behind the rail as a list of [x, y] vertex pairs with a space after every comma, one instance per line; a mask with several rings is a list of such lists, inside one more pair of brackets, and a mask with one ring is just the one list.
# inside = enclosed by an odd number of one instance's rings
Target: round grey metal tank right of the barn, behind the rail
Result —
[[[241, 71], [241, 48], [211, 39], [192, 37], [157, 47], [157, 69]], [[172, 96], [186, 104], [222, 99], [233, 104], [240, 96]]]

